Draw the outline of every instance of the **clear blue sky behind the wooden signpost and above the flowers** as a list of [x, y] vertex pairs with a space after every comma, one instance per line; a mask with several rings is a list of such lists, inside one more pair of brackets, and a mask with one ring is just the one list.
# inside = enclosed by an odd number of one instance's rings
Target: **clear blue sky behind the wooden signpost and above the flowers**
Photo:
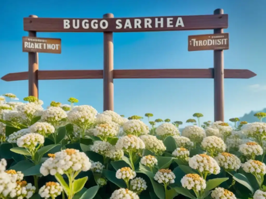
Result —
[[[225, 51], [225, 68], [249, 69], [252, 79], [225, 80], [225, 120], [265, 107], [265, 30], [266, 1], [3, 1], [0, 8], [0, 76], [27, 71], [28, 54], [22, 53], [23, 17], [34, 14], [51, 18], [101, 18], [111, 12], [115, 17], [144, 17], [213, 14], [223, 8], [229, 15], [230, 50]], [[114, 33], [115, 69], [210, 68], [213, 51], [188, 52], [188, 35], [207, 31], [170, 31]], [[62, 54], [39, 54], [40, 70], [103, 68], [102, 33], [38, 33], [38, 37], [62, 39]], [[212, 79], [115, 79], [115, 111], [127, 117], [153, 113], [172, 121], [191, 118], [195, 112], [203, 120], [213, 120]], [[11, 92], [21, 100], [28, 95], [28, 82], [0, 80], [0, 93]], [[43, 80], [39, 97], [67, 103], [69, 97], [79, 105], [89, 104], [103, 110], [102, 80]], [[146, 120], [145, 120], [146, 121]]]

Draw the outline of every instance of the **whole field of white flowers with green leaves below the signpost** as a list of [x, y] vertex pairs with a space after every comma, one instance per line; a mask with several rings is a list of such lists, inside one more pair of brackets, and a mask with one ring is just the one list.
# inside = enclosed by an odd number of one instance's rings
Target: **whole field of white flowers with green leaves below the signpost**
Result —
[[195, 113], [180, 132], [151, 113], [15, 99], [0, 96], [0, 198], [266, 198], [265, 113], [234, 126]]

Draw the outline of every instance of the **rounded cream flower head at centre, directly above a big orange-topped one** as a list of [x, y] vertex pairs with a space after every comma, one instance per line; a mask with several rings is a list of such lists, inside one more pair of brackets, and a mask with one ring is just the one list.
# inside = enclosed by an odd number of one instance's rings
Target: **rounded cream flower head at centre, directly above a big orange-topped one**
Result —
[[127, 135], [140, 136], [148, 134], [149, 127], [141, 120], [132, 119], [123, 124], [123, 131]]

